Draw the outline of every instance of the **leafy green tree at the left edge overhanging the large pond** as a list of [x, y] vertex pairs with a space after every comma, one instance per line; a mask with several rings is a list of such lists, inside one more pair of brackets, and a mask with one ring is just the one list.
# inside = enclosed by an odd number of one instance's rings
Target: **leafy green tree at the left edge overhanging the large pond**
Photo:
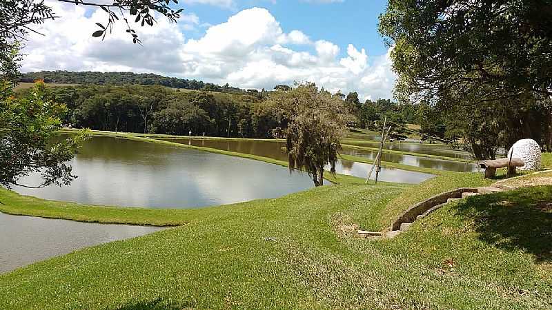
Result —
[[[79, 134], [59, 143], [53, 142], [61, 127], [66, 107], [52, 101], [46, 85], [39, 81], [28, 96], [13, 96], [10, 81], [0, 83], [0, 185], [46, 187], [68, 185], [75, 175], [68, 161], [87, 136]], [[43, 181], [26, 185], [19, 180], [40, 174]]]

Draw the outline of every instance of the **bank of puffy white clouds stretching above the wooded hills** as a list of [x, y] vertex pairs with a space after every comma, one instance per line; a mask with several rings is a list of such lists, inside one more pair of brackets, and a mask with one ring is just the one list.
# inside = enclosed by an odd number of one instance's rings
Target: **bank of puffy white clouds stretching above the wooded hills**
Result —
[[[348, 45], [339, 58], [335, 43], [312, 41], [299, 30], [286, 33], [262, 8], [209, 26], [199, 39], [186, 39], [182, 32], [201, 25], [197, 15], [186, 14], [179, 23], [159, 18], [154, 27], [134, 27], [144, 43], [140, 46], [132, 44], [123, 23], [103, 42], [92, 38], [95, 22], [106, 18], [101, 10], [87, 17], [82, 6], [51, 4], [62, 18], [37, 29], [44, 37], [29, 37], [23, 71], [155, 72], [257, 89], [313, 81], [332, 92], [357, 91], [363, 99], [390, 98], [395, 81], [389, 53], [369, 57], [364, 48]], [[294, 50], [295, 45], [306, 50]]]

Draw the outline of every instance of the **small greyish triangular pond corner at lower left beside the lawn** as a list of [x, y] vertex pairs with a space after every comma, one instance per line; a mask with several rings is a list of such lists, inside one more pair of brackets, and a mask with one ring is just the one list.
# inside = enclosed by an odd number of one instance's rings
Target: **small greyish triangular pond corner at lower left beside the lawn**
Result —
[[133, 238], [162, 229], [102, 225], [0, 213], [0, 273], [83, 247]]

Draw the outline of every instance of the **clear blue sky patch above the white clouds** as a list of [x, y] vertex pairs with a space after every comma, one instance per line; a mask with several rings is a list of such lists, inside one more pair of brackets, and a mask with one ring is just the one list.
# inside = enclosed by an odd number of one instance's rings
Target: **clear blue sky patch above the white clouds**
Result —
[[[181, 2], [181, 1], [180, 1]], [[386, 46], [377, 32], [378, 17], [384, 12], [384, 0], [346, 0], [343, 2], [301, 0], [237, 0], [234, 6], [212, 6], [201, 3], [181, 3], [184, 13], [196, 14], [201, 23], [216, 25], [240, 10], [257, 6], [266, 8], [279, 21], [284, 32], [301, 30], [313, 40], [324, 39], [339, 46], [352, 43], [366, 48], [369, 54], [385, 54]], [[199, 37], [204, 29], [189, 32]], [[343, 56], [346, 50], [342, 49]]]

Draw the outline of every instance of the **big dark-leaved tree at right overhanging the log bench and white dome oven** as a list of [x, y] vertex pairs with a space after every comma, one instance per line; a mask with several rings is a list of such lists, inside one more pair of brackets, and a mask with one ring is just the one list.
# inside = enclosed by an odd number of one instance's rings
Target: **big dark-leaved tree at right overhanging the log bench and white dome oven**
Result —
[[480, 159], [551, 141], [531, 126], [552, 119], [551, 29], [545, 0], [392, 0], [380, 17], [397, 98], [435, 107]]

